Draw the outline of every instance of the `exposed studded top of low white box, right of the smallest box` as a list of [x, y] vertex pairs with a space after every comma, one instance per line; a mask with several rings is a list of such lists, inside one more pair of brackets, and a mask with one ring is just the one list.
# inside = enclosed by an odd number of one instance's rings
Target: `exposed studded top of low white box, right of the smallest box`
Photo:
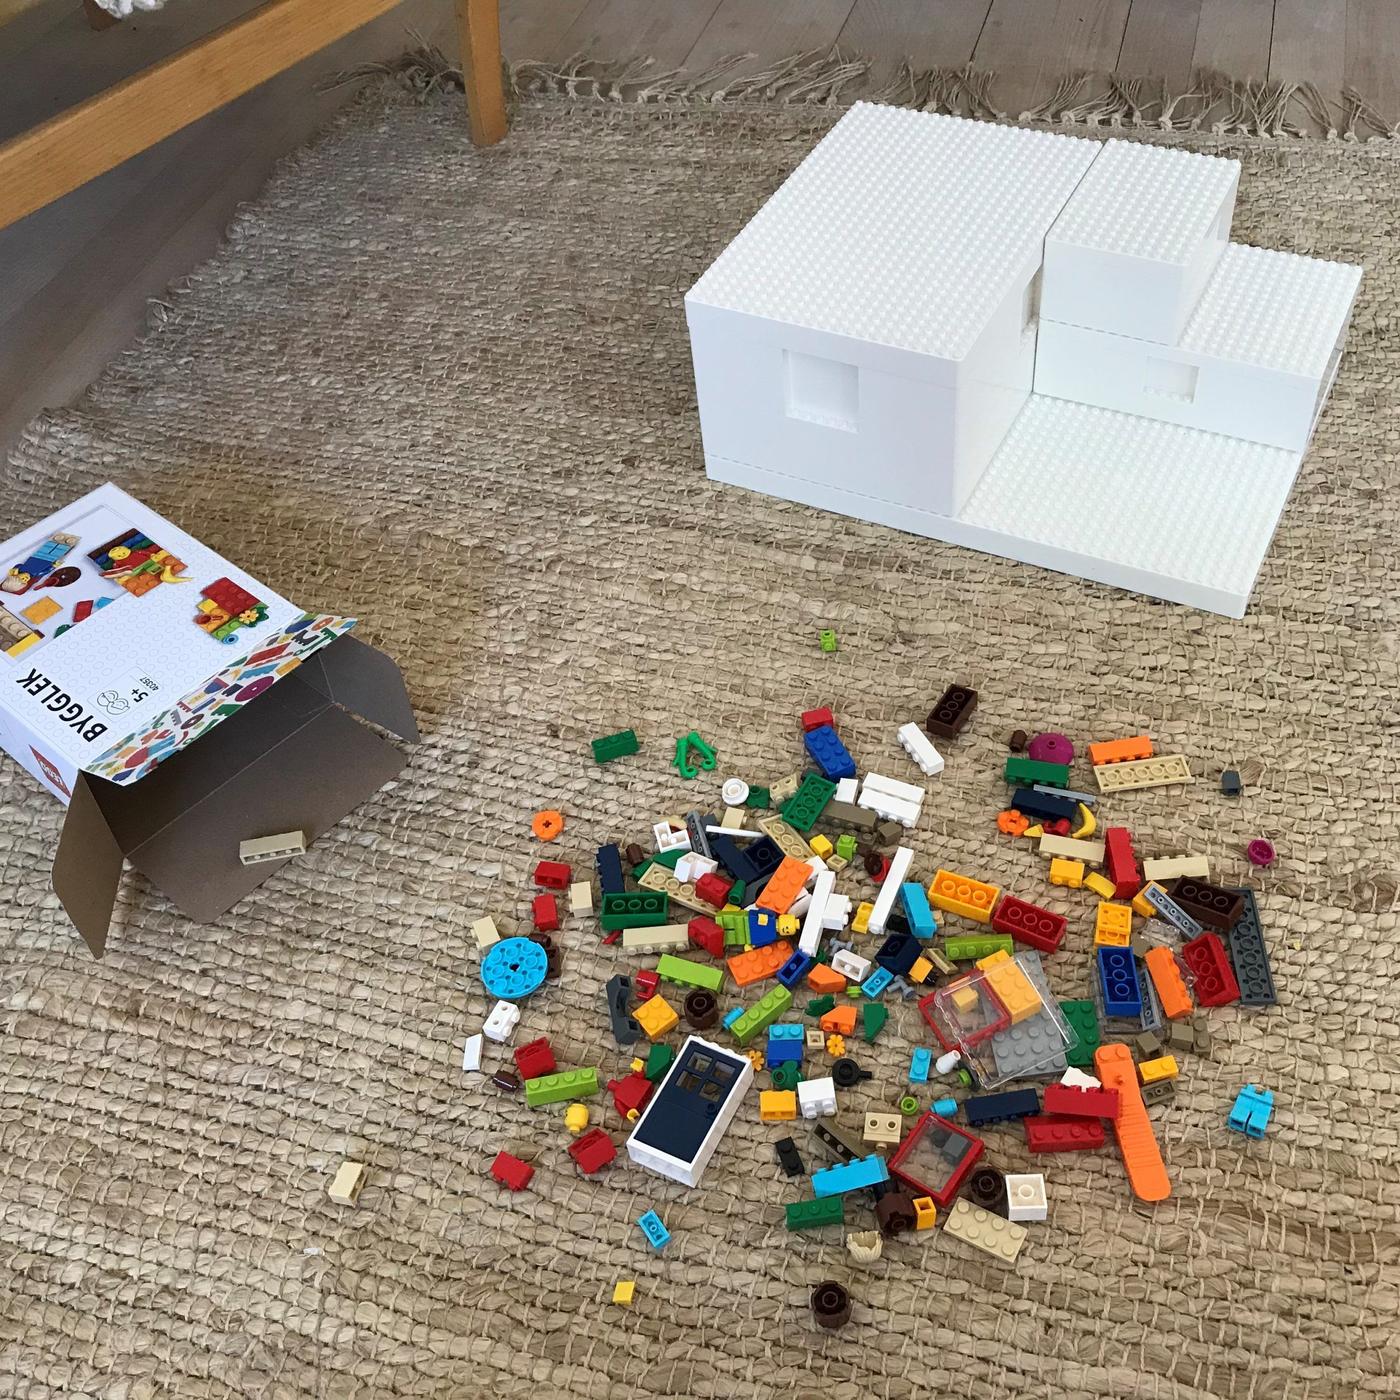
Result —
[[1320, 379], [1359, 284], [1351, 263], [1231, 244], [1179, 349]]

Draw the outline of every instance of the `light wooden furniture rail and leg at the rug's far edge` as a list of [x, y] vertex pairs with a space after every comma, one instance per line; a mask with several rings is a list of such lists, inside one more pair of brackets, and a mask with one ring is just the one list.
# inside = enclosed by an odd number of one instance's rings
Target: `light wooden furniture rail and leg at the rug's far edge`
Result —
[[[0, 228], [242, 97], [398, 0], [265, 0], [249, 14], [0, 146]], [[497, 0], [455, 0], [472, 140], [505, 134]]]

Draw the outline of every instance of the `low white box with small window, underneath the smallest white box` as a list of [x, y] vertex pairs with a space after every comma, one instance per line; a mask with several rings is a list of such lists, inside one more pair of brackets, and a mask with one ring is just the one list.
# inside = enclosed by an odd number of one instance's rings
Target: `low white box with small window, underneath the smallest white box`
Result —
[[1231, 244], [1176, 346], [1043, 319], [1036, 392], [1302, 452], [1361, 269]]

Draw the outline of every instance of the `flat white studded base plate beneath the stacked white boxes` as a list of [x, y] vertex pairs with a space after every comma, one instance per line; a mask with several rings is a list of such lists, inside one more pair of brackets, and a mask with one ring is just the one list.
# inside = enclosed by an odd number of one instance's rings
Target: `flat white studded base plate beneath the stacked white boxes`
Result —
[[731, 486], [1243, 617], [1301, 461], [1032, 395], [956, 515], [913, 494], [865, 496], [710, 452], [706, 470]]

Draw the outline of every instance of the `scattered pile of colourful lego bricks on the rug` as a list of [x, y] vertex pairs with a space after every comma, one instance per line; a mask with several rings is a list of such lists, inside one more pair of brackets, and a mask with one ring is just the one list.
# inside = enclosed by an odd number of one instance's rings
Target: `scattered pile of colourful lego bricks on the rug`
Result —
[[[1016, 1259], [1026, 1224], [1047, 1218], [1046, 1177], [990, 1165], [988, 1128], [1023, 1133], [1033, 1154], [1057, 1154], [1105, 1148], [1112, 1127], [1130, 1190], [1163, 1200], [1170, 1173], [1149, 1107], [1170, 1102], [1182, 1060], [1210, 1053], [1205, 1011], [1275, 1004], [1257, 902], [1247, 888], [1210, 883], [1204, 857], [1140, 862], [1133, 832], [1102, 815], [1100, 804], [1120, 794], [1194, 781], [1184, 756], [1158, 755], [1147, 736], [1089, 743], [1091, 792], [1071, 785], [1077, 750], [1067, 735], [1018, 729], [1002, 773], [1008, 804], [988, 840], [1033, 844], [1044, 864], [1030, 882], [1096, 900], [1089, 995], [1056, 1001], [1042, 958], [1060, 949], [1068, 918], [955, 871], [938, 869], [925, 885], [913, 878], [914, 851], [903, 844], [927, 781], [944, 770], [934, 741], [956, 745], [976, 706], [976, 692], [955, 685], [923, 727], [899, 728], [924, 783], [860, 776], [836, 717], [811, 710], [801, 715], [808, 770], [769, 787], [727, 778], [721, 816], [697, 808], [662, 818], [650, 851], [601, 847], [596, 890], [568, 864], [540, 860], [533, 932], [501, 938], [490, 917], [473, 925], [483, 981], [498, 1000], [468, 1037], [463, 1070], [482, 1072], [484, 1042], [508, 1044], [518, 1001], [560, 974], [552, 935], [567, 890], [570, 914], [596, 914], [603, 944], [631, 969], [606, 986], [610, 1037], [624, 1056], [648, 1049], [605, 1081], [596, 1067], [561, 1070], [539, 1037], [514, 1049], [514, 1070], [491, 1075], [503, 1091], [524, 1091], [531, 1109], [567, 1106], [561, 1140], [573, 1166], [560, 1168], [592, 1175], [616, 1161], [617, 1142], [589, 1127], [584, 1102], [606, 1093], [630, 1126], [629, 1158], [697, 1186], [735, 1114], [752, 1112], [743, 1109], [748, 1089], [766, 1075], [759, 1117], [812, 1120], [808, 1151], [822, 1159], [809, 1172], [791, 1135], [774, 1141], [783, 1173], [809, 1187], [787, 1204], [788, 1229], [844, 1228], [865, 1208], [871, 1228], [844, 1236], [857, 1261], [939, 1222], [962, 1245]], [[594, 741], [599, 763], [638, 749], [630, 729]], [[718, 767], [696, 732], [676, 741], [673, 762], [689, 780]], [[1233, 770], [1219, 784], [1225, 799], [1240, 797]], [[542, 841], [564, 826], [554, 811], [532, 822]], [[1274, 860], [1263, 839], [1246, 854], [1256, 865]], [[839, 881], [851, 892], [839, 892]], [[652, 955], [654, 966], [636, 966]], [[735, 1004], [725, 1008], [731, 986]], [[881, 1036], [896, 997], [917, 998], [928, 1043], [910, 1047], [907, 1082], [889, 1086], [888, 1112], [843, 1128], [829, 1121], [839, 1092], [872, 1078], [858, 1044]], [[676, 1047], [682, 1021], [693, 1033]], [[1022, 1086], [1005, 1086], [1012, 1082]], [[1249, 1085], [1226, 1123], [1263, 1137], [1271, 1110], [1271, 1091]], [[491, 1165], [511, 1190], [525, 1189], [533, 1172], [507, 1152]], [[665, 1247], [671, 1236], [654, 1211], [637, 1224], [652, 1249]], [[633, 1288], [620, 1281], [615, 1302], [630, 1303]], [[850, 1296], [823, 1282], [812, 1310], [818, 1324], [839, 1327]]]

